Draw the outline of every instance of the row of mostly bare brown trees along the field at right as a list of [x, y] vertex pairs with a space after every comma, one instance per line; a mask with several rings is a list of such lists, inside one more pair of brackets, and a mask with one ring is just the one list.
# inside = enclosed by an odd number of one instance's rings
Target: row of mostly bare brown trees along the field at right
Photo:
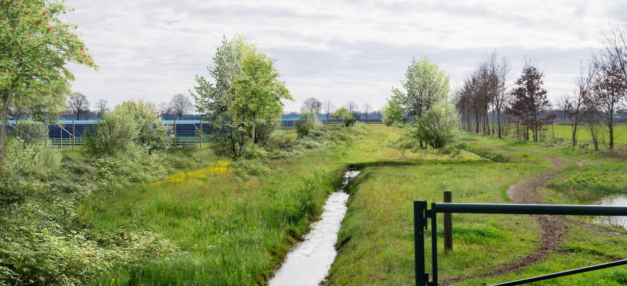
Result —
[[585, 127], [596, 149], [603, 144], [613, 150], [617, 119], [627, 110], [626, 27], [625, 22], [612, 23], [603, 31], [603, 47], [580, 63], [573, 93], [559, 97], [555, 106], [548, 100], [537, 63], [525, 61], [508, 90], [509, 60], [489, 54], [456, 90], [462, 129], [542, 141], [546, 125], [561, 118], [571, 125], [573, 148], [578, 145], [578, 129]]

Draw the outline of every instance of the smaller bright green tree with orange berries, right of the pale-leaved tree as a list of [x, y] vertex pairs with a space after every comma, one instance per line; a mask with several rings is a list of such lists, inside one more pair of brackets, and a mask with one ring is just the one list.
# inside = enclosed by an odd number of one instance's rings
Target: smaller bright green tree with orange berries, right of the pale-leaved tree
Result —
[[292, 100], [285, 83], [279, 81], [281, 74], [273, 62], [264, 54], [249, 54], [244, 59], [242, 75], [231, 86], [229, 113], [251, 127], [253, 144], [257, 120], [278, 118], [283, 110], [281, 99]]

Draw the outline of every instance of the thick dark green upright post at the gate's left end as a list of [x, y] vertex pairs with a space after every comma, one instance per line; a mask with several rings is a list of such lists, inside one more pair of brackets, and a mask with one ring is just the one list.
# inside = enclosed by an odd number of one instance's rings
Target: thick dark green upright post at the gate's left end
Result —
[[424, 273], [424, 228], [426, 200], [414, 201], [414, 263], [416, 285], [424, 286], [428, 276]]

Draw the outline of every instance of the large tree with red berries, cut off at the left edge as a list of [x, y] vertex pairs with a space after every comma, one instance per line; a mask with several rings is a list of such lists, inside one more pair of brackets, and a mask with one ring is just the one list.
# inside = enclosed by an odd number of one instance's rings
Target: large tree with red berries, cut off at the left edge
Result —
[[0, 166], [9, 108], [29, 109], [35, 119], [58, 114], [74, 80], [66, 65], [97, 68], [77, 24], [67, 21], [72, 10], [60, 0], [0, 2]]

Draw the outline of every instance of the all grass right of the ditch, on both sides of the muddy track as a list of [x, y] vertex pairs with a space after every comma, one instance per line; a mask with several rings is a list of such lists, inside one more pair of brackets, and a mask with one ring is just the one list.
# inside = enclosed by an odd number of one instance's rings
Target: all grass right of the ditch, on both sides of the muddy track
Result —
[[[627, 193], [627, 164], [588, 149], [566, 145], [549, 148], [543, 143], [461, 136], [463, 147], [502, 163], [476, 159], [449, 160], [447, 164], [414, 162], [389, 166], [364, 166], [350, 191], [348, 214], [339, 237], [339, 255], [330, 274], [331, 285], [407, 285], [413, 282], [412, 208], [410, 202], [441, 201], [442, 191], [453, 191], [455, 202], [511, 202], [509, 185], [522, 178], [545, 173], [550, 164], [519, 148], [569, 157], [557, 177], [541, 190], [548, 202], [589, 203], [613, 193]], [[575, 161], [582, 161], [580, 167]], [[592, 186], [592, 187], [591, 187]], [[583, 219], [590, 221], [589, 218]], [[441, 225], [441, 224], [440, 224]], [[440, 230], [438, 230], [440, 232]], [[460, 285], [486, 285], [552, 273], [591, 264], [624, 259], [627, 238], [569, 224], [569, 232], [557, 253], [520, 273], [488, 279], [465, 280]], [[425, 236], [430, 237], [426, 231]], [[529, 216], [454, 215], [454, 250], [438, 246], [440, 280], [472, 275], [518, 260], [538, 246], [539, 230]], [[430, 258], [427, 238], [426, 261]], [[431, 271], [430, 264], [426, 271]], [[627, 267], [545, 281], [539, 285], [621, 285], [627, 283]]]

